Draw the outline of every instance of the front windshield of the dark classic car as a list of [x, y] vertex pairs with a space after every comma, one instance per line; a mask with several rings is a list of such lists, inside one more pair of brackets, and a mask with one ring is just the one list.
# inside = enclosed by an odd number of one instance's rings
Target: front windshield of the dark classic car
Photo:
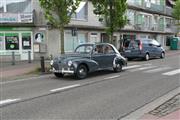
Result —
[[80, 45], [75, 49], [75, 53], [90, 54], [93, 50], [92, 45]]

